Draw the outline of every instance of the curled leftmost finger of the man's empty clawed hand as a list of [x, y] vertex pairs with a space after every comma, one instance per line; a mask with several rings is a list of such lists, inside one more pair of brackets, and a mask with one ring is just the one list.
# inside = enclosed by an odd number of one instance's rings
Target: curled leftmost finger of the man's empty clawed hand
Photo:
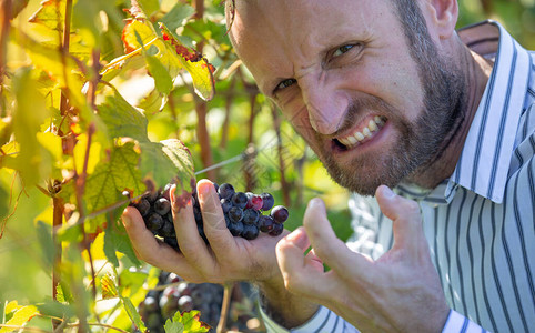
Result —
[[282, 239], [275, 248], [279, 268], [290, 292], [311, 299], [324, 299], [331, 294], [334, 283], [329, 281], [323, 264], [314, 258], [313, 252], [304, 255], [309, 246], [310, 241], [303, 228]]

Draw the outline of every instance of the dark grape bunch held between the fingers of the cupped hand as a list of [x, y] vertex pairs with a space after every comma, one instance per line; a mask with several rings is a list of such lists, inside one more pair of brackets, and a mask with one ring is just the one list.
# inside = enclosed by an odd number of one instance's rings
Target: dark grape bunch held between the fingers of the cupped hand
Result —
[[[229, 183], [221, 186], [216, 183], [213, 184], [221, 201], [226, 228], [232, 235], [254, 240], [260, 232], [269, 233], [272, 236], [282, 233], [289, 212], [283, 205], [273, 206], [275, 203], [273, 195], [270, 193], [236, 192], [234, 186]], [[171, 184], [168, 184], [162, 191], [145, 194], [131, 205], [138, 209], [147, 228], [154, 235], [160, 236], [166, 244], [180, 251], [171, 213], [170, 188]], [[191, 200], [199, 234], [208, 243], [196, 191], [193, 192]], [[270, 210], [270, 214], [263, 214]]]

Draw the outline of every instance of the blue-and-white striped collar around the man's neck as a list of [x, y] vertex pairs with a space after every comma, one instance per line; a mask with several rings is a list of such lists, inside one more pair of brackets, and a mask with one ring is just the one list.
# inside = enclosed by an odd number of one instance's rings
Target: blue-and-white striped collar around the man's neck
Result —
[[529, 54], [495, 21], [464, 28], [458, 36], [475, 52], [495, 59], [463, 152], [452, 176], [436, 189], [400, 185], [398, 190], [415, 200], [440, 204], [450, 203], [463, 186], [502, 203], [527, 92]]

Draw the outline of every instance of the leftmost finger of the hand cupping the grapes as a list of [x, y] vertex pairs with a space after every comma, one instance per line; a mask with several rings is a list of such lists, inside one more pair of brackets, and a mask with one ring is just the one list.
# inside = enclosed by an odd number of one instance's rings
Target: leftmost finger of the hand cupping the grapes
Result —
[[166, 244], [159, 243], [154, 238], [154, 234], [147, 229], [143, 218], [137, 209], [128, 206], [122, 214], [122, 223], [132, 243], [132, 248], [139, 259], [155, 266], [166, 266], [173, 262], [174, 269], [180, 269], [183, 258], [168, 246]]

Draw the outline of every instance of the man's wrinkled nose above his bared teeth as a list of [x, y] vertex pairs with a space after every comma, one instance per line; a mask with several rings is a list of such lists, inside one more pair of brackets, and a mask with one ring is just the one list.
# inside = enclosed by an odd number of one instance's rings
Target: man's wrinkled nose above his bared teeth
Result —
[[300, 85], [312, 128], [320, 134], [335, 133], [343, 123], [347, 97], [335, 87], [317, 81], [306, 80]]

